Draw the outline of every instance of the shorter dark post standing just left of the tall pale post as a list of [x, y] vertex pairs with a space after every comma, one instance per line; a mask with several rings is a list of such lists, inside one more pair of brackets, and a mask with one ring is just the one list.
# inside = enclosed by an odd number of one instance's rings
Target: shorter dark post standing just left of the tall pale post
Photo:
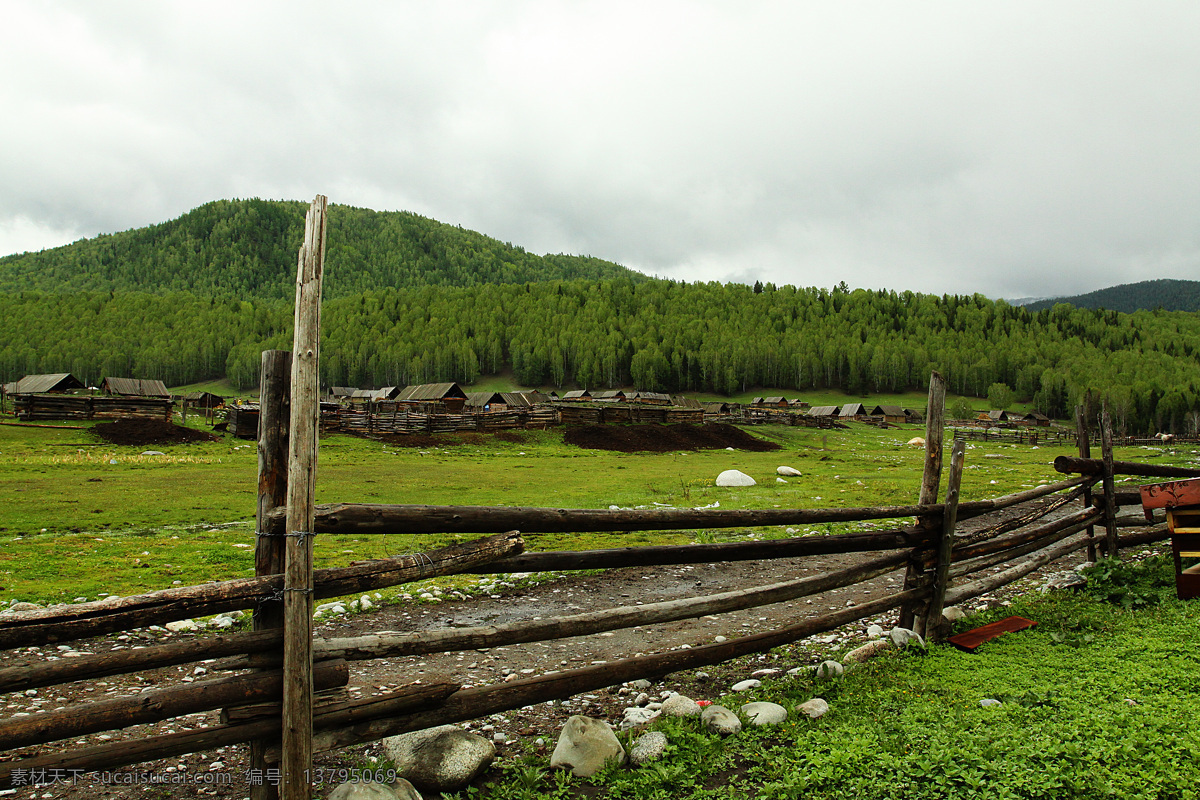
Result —
[[[292, 380], [292, 353], [264, 350], [258, 373], [258, 517], [254, 537], [254, 576], [281, 575], [284, 569], [283, 536], [270, 536], [268, 515], [288, 501], [288, 390]], [[283, 627], [283, 606], [265, 601], [254, 609], [254, 630]], [[263, 777], [270, 766], [268, 747], [277, 740], [259, 739], [250, 745], [251, 800], [276, 800], [278, 787]]]

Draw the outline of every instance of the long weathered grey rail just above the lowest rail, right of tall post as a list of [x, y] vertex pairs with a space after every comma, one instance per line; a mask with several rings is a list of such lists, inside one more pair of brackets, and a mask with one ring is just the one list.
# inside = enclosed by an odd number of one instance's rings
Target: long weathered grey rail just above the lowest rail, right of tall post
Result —
[[[349, 638], [318, 639], [313, 652], [320, 658], [362, 661], [428, 652], [452, 652], [493, 648], [523, 642], [546, 642], [572, 636], [587, 636], [635, 625], [654, 625], [707, 614], [721, 614], [744, 608], [796, 600], [810, 595], [870, 581], [899, 569], [907, 560], [906, 553], [893, 553], [844, 570], [809, 578], [726, 591], [707, 597], [685, 597], [643, 606], [624, 606], [602, 610], [560, 616], [550, 620], [487, 625], [482, 627], [451, 627], [407, 633], [376, 633]], [[222, 668], [238, 669], [238, 661]]]

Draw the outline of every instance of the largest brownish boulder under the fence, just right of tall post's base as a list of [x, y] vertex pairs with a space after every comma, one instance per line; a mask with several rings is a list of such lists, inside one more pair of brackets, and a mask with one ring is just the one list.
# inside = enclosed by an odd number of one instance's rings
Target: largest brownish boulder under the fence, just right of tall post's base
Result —
[[425, 792], [457, 792], [496, 758], [487, 739], [443, 724], [383, 741], [396, 774]]

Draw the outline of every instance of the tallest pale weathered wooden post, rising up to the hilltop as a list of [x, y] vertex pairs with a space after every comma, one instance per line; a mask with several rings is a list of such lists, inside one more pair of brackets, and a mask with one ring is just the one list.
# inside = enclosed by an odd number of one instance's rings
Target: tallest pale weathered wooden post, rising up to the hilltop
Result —
[[312, 540], [320, 414], [320, 289], [325, 263], [325, 198], [308, 206], [296, 270], [288, 433], [288, 517], [283, 572], [283, 800], [312, 796]]

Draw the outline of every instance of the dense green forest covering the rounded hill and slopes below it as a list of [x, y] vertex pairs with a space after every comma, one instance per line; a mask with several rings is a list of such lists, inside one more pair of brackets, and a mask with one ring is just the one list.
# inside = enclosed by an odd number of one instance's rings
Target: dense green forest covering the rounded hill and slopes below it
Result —
[[[209, 203], [179, 219], [0, 259], [0, 379], [72, 372], [253, 386], [288, 348], [305, 205]], [[523, 386], [740, 392], [923, 390], [1032, 401], [1063, 417], [1088, 392], [1126, 431], [1194, 431], [1200, 315], [980, 295], [652, 279], [533, 255], [404, 212], [332, 206], [325, 385], [511, 371]]]

